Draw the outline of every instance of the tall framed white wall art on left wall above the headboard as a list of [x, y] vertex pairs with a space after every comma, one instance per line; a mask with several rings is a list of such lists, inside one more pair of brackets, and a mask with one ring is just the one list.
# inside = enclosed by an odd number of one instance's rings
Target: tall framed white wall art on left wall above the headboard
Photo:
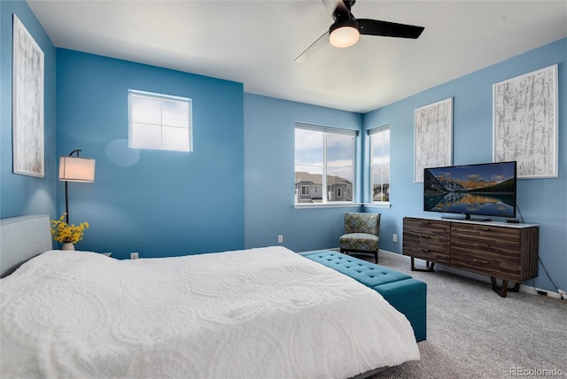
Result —
[[13, 172], [43, 178], [43, 51], [15, 14], [12, 53]]

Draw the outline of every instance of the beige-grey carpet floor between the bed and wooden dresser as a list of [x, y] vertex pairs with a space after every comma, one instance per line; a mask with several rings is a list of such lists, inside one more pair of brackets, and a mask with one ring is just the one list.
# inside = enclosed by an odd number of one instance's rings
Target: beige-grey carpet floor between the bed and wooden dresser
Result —
[[412, 272], [398, 254], [381, 252], [378, 264], [427, 283], [427, 341], [418, 344], [421, 360], [372, 378], [567, 377], [567, 304], [524, 292], [501, 298], [486, 282]]

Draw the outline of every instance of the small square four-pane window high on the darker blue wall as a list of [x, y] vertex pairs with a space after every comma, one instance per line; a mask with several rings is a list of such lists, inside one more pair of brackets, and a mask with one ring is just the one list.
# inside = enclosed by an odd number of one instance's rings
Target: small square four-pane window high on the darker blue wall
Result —
[[189, 98], [128, 90], [128, 125], [131, 148], [193, 150]]

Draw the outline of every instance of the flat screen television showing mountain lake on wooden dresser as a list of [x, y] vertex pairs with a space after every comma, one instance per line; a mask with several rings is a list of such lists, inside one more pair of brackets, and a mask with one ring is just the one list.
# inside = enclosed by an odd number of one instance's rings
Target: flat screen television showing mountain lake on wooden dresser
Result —
[[515, 161], [425, 168], [423, 211], [515, 218], [516, 188]]

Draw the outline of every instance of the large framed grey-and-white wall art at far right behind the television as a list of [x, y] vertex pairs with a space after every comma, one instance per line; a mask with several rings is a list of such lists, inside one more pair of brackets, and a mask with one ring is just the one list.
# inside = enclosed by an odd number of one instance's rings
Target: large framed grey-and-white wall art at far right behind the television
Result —
[[518, 178], [558, 175], [557, 65], [493, 85], [493, 161]]

